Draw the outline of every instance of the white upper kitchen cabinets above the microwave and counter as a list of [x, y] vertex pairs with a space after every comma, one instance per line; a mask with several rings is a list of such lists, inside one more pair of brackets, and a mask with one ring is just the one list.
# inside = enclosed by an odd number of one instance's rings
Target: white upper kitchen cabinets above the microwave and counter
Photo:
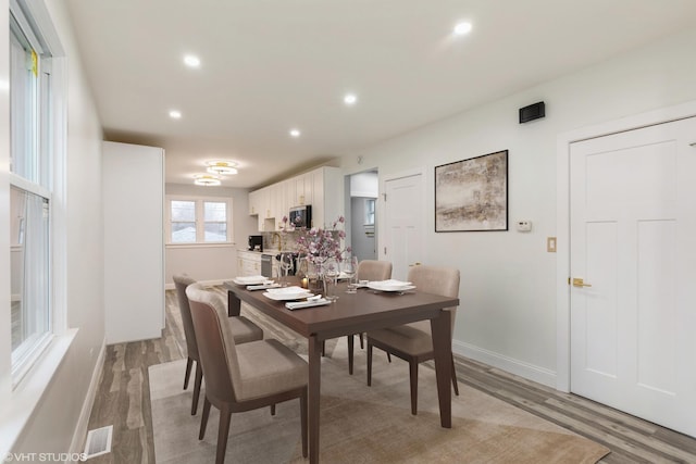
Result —
[[312, 206], [312, 226], [333, 223], [343, 210], [338, 167], [319, 167], [249, 193], [249, 214], [258, 216], [259, 231], [279, 230], [293, 206]]

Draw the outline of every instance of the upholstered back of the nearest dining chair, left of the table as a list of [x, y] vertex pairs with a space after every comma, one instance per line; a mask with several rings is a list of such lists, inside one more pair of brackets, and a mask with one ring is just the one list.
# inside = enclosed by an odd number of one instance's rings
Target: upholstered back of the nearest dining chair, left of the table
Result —
[[188, 286], [186, 296], [206, 378], [206, 394], [213, 400], [234, 402], [235, 388], [240, 389], [241, 381], [225, 302], [220, 294], [204, 290], [200, 284]]

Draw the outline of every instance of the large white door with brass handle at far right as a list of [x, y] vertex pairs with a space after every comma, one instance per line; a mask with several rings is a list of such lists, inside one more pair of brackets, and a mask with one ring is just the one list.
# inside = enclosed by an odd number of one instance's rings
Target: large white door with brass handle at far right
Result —
[[691, 436], [695, 141], [688, 118], [570, 151], [571, 390]]

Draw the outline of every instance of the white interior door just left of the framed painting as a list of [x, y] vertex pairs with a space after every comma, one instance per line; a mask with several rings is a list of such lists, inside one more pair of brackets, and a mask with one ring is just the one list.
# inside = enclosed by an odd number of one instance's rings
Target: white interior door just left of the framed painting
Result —
[[386, 239], [380, 256], [391, 262], [391, 277], [403, 280], [423, 256], [423, 175], [386, 180], [384, 192]]

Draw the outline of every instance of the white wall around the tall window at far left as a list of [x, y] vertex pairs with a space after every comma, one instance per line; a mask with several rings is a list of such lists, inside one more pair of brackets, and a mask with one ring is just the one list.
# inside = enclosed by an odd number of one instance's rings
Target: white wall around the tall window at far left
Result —
[[[67, 187], [65, 196], [64, 262], [57, 263], [57, 279], [62, 283], [57, 298], [64, 300], [63, 328], [77, 328], [72, 344], [53, 374], [28, 423], [22, 430], [14, 452], [66, 452], [71, 449], [78, 422], [84, 421], [85, 399], [104, 339], [103, 261], [101, 216], [101, 128], [94, 100], [80, 67], [70, 21], [63, 2], [47, 2], [60, 40], [67, 54]], [[8, 73], [8, 2], [0, 8], [0, 80]], [[0, 85], [0, 212], [2, 224], [9, 224], [7, 171], [9, 166], [8, 92]], [[10, 308], [9, 308], [9, 238], [8, 227], [0, 227], [0, 397], [3, 402], [13, 394], [9, 388]], [[99, 368], [101, 366], [99, 365]], [[90, 406], [90, 404], [87, 404]], [[88, 417], [88, 416], [87, 416]], [[0, 427], [15, 417], [0, 415]], [[82, 444], [82, 443], [80, 443]]]

